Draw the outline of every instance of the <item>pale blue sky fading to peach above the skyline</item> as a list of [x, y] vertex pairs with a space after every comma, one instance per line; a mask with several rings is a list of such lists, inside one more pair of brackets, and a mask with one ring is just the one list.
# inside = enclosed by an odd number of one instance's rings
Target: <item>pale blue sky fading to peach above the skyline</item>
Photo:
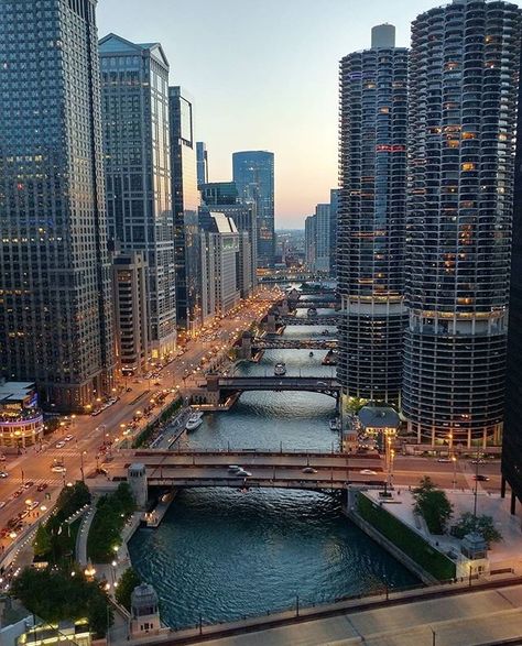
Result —
[[[275, 228], [304, 228], [337, 186], [338, 63], [370, 46], [371, 28], [410, 23], [433, 0], [100, 0], [100, 37], [161, 42], [171, 85], [194, 97], [209, 179], [231, 179], [232, 153], [275, 154]], [[522, 0], [515, 2], [521, 6]]]

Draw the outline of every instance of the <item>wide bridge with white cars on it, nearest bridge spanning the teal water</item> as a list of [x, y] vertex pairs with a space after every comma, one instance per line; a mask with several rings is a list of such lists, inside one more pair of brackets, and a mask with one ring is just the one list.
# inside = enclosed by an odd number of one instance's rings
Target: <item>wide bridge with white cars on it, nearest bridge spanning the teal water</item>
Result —
[[[109, 467], [112, 480], [126, 479], [134, 462], [145, 467], [150, 486], [345, 490], [348, 484], [383, 485], [385, 480], [377, 455], [257, 450], [120, 451]], [[240, 466], [251, 475], [235, 475], [230, 464]]]

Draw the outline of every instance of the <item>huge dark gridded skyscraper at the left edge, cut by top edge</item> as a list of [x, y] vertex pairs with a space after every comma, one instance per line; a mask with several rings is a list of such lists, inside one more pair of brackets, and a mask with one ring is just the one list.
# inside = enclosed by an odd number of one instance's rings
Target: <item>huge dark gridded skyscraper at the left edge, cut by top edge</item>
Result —
[[0, 369], [64, 410], [115, 363], [95, 9], [0, 0]]

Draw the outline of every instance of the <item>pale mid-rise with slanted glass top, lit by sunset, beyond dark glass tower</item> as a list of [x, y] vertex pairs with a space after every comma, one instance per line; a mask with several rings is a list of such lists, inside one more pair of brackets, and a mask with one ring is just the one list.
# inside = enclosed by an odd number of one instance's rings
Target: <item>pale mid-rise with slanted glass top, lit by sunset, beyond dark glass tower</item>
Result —
[[231, 217], [200, 209], [204, 231], [202, 296], [205, 318], [225, 316], [240, 300], [239, 233]]

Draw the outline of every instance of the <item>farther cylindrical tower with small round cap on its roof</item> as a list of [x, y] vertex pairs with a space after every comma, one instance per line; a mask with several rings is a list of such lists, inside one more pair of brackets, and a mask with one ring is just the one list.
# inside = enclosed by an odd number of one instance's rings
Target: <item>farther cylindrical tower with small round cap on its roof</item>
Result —
[[348, 397], [400, 398], [406, 110], [407, 50], [392, 25], [376, 26], [371, 48], [340, 62], [338, 375]]

